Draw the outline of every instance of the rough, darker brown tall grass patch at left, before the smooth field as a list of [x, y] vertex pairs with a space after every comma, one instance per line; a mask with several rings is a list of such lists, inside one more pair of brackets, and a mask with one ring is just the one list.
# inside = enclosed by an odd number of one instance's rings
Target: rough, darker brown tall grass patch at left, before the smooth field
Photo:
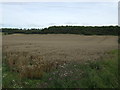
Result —
[[44, 72], [49, 72], [59, 64], [54, 61], [44, 60], [43, 56], [28, 52], [6, 52], [4, 53], [5, 63], [11, 72], [19, 73], [20, 78], [41, 78]]

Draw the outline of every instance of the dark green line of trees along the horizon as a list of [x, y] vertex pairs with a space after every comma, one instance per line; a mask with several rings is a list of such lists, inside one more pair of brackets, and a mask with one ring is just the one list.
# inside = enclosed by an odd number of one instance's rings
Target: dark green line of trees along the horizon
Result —
[[2, 28], [4, 34], [119, 35], [119, 26], [51, 26], [43, 29]]

